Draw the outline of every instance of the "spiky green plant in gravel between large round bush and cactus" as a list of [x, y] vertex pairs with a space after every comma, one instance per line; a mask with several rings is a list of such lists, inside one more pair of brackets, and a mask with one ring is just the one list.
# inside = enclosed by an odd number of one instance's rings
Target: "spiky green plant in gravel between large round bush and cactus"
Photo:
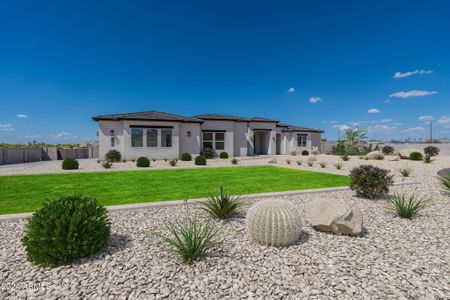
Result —
[[183, 224], [167, 223], [168, 235], [157, 234], [162, 244], [172, 255], [181, 256], [187, 264], [193, 264], [205, 255], [212, 247], [220, 244], [217, 238], [218, 231], [209, 223], [198, 225], [197, 219], [192, 218]]

